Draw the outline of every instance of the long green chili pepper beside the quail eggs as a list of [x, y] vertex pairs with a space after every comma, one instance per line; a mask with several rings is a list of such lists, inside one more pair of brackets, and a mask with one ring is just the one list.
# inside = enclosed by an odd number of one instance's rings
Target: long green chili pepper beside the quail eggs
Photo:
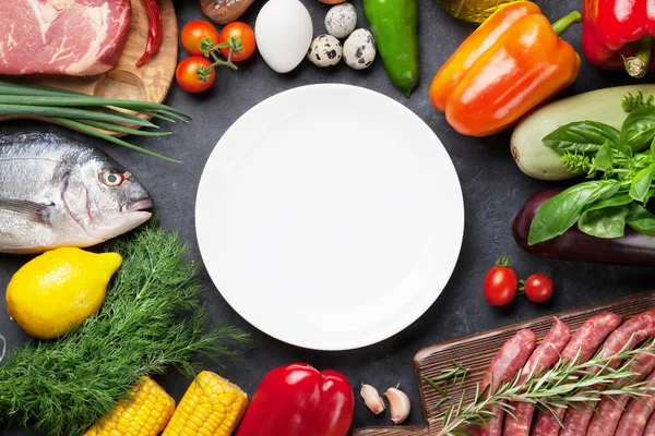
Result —
[[418, 0], [364, 0], [386, 74], [409, 97], [418, 84]]

